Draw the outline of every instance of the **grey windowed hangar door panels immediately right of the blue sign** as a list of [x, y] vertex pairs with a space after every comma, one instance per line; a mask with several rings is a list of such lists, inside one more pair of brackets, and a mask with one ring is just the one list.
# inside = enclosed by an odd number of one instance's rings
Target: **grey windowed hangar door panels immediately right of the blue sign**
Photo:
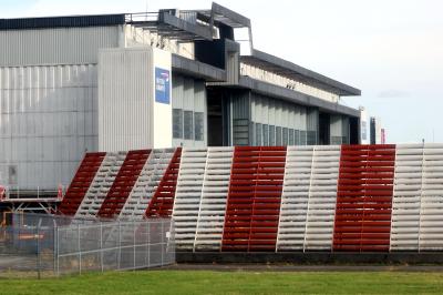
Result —
[[202, 80], [173, 75], [173, 145], [207, 145], [206, 87]]

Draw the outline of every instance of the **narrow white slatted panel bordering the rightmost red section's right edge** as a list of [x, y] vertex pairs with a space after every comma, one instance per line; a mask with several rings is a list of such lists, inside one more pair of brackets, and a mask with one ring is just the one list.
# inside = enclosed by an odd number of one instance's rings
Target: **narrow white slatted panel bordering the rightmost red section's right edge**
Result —
[[392, 200], [391, 251], [419, 248], [423, 146], [399, 144]]

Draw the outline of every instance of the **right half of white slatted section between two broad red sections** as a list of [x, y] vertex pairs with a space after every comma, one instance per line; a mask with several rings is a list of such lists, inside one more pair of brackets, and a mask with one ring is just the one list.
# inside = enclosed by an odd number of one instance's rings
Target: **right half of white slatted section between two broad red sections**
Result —
[[340, 146], [313, 148], [305, 250], [332, 248]]

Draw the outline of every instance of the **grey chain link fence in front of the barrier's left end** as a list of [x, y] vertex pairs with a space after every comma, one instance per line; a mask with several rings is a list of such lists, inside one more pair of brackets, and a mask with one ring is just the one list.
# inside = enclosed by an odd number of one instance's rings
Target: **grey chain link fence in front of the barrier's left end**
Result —
[[14, 213], [1, 230], [0, 276], [59, 276], [175, 263], [174, 223]]

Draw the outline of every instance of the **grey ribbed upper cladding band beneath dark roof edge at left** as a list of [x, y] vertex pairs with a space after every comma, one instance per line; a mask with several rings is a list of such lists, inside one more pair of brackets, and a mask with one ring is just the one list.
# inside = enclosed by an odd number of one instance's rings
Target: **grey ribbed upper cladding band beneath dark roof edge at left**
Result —
[[0, 67], [97, 63], [119, 47], [121, 26], [0, 31]]

